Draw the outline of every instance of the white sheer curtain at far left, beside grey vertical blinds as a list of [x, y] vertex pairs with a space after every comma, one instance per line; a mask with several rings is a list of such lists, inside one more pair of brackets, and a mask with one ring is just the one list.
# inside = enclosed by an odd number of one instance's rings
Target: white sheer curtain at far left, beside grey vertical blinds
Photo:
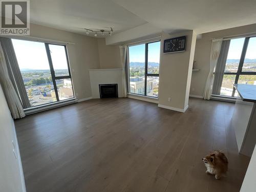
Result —
[[0, 44], [0, 83], [2, 85], [12, 118], [18, 119], [25, 117], [22, 103], [13, 87], [12, 81], [9, 77], [6, 60], [2, 45]]

